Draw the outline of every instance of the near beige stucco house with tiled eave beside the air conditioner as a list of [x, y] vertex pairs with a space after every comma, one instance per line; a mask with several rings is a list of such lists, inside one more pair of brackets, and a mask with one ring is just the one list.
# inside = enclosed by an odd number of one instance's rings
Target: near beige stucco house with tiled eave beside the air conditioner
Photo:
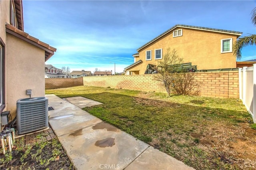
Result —
[[[0, 1], [0, 113], [16, 115], [16, 102], [44, 96], [44, 63], [56, 48], [24, 32], [22, 0]], [[29, 73], [29, 74], [28, 74]]]

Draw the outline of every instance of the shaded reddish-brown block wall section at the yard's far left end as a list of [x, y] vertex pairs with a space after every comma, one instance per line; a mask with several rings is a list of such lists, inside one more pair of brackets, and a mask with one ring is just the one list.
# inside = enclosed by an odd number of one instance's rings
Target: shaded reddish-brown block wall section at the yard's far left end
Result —
[[83, 86], [83, 78], [45, 78], [45, 89]]

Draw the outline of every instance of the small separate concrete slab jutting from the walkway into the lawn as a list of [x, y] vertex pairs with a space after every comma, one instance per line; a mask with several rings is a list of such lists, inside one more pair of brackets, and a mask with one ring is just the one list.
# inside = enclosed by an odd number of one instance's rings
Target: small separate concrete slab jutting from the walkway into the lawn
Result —
[[76, 96], [76, 97], [70, 97], [70, 98], [64, 98], [64, 100], [80, 107], [81, 109], [84, 107], [90, 107], [90, 106], [95, 106], [95, 105], [99, 105], [102, 104], [100, 102], [96, 102], [94, 100], [90, 100], [87, 98], [84, 98], [82, 96]]

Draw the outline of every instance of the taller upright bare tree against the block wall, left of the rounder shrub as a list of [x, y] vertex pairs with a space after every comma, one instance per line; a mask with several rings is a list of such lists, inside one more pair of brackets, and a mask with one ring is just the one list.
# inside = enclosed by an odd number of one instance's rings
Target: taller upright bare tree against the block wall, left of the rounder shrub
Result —
[[176, 79], [177, 67], [175, 65], [182, 64], [182, 62], [183, 59], [178, 56], [177, 51], [173, 49], [171, 52], [169, 47], [162, 60], [158, 61], [158, 66], [154, 68], [158, 72], [156, 80], [164, 83], [168, 96], [171, 94], [171, 87]]

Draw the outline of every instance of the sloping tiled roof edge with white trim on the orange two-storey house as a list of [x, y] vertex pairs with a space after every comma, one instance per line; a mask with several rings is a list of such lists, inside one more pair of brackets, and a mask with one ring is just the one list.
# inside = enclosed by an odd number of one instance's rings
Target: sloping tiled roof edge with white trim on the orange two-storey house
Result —
[[140, 48], [137, 49], [137, 51], [146, 47], [147, 45], [151, 44], [152, 42], [156, 41], [157, 39], [166, 35], [167, 33], [169, 33], [170, 31], [172, 31], [173, 29], [175, 29], [177, 27], [197, 29], [197, 30], [203, 30], [203, 31], [212, 31], [212, 32], [218, 32], [218, 33], [227, 33], [227, 34], [237, 35], [238, 37], [240, 35], [242, 35], [242, 32], [238, 32], [238, 31], [230, 31], [230, 30], [225, 30], [225, 29], [214, 29], [214, 28], [208, 28], [208, 27], [198, 27], [198, 26], [192, 26], [192, 25], [177, 24], [177, 25], [174, 25], [173, 27], [171, 27], [170, 29], [168, 29], [167, 31], [165, 31], [164, 33], [158, 35], [156, 38], [154, 38], [151, 41], [147, 42], [146, 44], [142, 45]]

